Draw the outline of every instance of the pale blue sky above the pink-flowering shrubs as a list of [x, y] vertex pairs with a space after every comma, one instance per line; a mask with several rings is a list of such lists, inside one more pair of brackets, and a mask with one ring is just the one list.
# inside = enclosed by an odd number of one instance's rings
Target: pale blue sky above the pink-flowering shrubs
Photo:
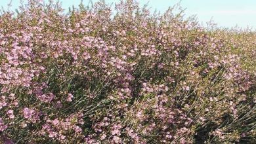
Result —
[[[6, 8], [11, 0], [0, 0], [0, 6]], [[16, 9], [20, 0], [12, 0], [12, 9]], [[24, 0], [26, 1], [26, 0]], [[80, 0], [60, 0], [64, 9], [72, 5], [79, 5]], [[97, 0], [93, 0], [97, 1]], [[118, 0], [106, 0], [107, 3], [116, 3]], [[137, 0], [142, 5], [149, 2], [150, 10], [167, 10], [179, 0]], [[83, 0], [88, 4], [89, 0]], [[256, 0], [182, 0], [181, 7], [186, 8], [186, 16], [196, 14], [200, 22], [213, 20], [220, 27], [256, 28]]]

